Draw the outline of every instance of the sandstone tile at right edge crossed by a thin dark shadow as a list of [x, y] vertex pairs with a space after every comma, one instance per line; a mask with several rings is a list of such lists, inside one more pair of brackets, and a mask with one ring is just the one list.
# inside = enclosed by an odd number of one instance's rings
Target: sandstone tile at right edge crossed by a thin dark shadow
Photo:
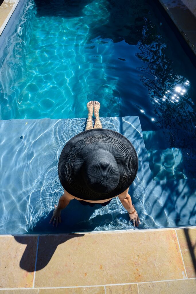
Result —
[[196, 277], [196, 229], [176, 230], [188, 278]]

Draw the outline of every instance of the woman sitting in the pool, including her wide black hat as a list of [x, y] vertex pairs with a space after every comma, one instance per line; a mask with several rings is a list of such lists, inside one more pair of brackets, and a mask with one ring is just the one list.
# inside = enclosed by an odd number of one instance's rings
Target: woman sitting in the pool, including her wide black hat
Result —
[[[128, 211], [135, 227], [140, 224], [138, 213], [128, 194], [138, 171], [138, 157], [132, 143], [120, 133], [103, 129], [98, 101], [87, 103], [88, 119], [84, 132], [74, 136], [64, 146], [59, 162], [58, 176], [64, 194], [55, 205], [49, 223], [61, 223], [61, 210], [72, 199], [83, 205], [106, 206], [118, 196]], [[93, 128], [93, 109], [95, 125]]]

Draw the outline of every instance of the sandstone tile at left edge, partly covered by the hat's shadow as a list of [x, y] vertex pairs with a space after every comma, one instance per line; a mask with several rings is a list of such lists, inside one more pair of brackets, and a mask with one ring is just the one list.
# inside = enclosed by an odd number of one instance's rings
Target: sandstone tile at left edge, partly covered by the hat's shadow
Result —
[[37, 236], [0, 237], [0, 288], [33, 286], [36, 249]]

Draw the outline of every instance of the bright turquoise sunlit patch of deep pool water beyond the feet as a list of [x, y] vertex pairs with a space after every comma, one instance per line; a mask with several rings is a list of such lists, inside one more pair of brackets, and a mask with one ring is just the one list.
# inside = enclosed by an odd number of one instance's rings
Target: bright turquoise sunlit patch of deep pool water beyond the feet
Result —
[[111, 116], [118, 115], [120, 101], [113, 97], [117, 79], [107, 77], [113, 42], [90, 34], [93, 24], [107, 24], [107, 1], [83, 6], [81, 16], [65, 11], [65, 17], [60, 5], [56, 15], [40, 15], [36, 2], [27, 1], [7, 40], [0, 69], [0, 118], [85, 117], [89, 100], [103, 102], [106, 116], [109, 105]]

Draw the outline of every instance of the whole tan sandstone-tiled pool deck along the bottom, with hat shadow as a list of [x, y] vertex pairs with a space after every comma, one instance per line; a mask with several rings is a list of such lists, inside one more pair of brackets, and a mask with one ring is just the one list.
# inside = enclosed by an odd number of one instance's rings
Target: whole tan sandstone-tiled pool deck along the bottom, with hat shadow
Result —
[[195, 241], [196, 227], [1, 235], [0, 292], [194, 294]]

